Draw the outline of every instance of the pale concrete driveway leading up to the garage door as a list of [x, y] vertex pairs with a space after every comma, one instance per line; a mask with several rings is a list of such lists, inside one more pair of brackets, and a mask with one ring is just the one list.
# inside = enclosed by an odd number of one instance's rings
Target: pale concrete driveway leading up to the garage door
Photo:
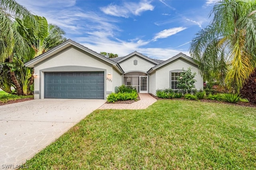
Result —
[[25, 163], [105, 102], [40, 99], [0, 106], [0, 169]]

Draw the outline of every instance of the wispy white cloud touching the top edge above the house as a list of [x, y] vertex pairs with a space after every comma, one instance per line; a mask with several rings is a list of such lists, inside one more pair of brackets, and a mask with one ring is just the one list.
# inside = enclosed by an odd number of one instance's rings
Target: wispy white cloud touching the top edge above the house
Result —
[[139, 16], [144, 11], [154, 10], [154, 6], [150, 2], [144, 0], [138, 3], [125, 2], [122, 5], [110, 4], [107, 7], [100, 8], [102, 12], [111, 16], [129, 18], [129, 16]]

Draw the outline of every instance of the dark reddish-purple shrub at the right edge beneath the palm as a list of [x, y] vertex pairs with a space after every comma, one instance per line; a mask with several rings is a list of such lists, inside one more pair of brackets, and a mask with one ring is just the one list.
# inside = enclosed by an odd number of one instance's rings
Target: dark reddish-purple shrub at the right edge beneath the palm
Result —
[[256, 68], [240, 91], [241, 96], [256, 104]]

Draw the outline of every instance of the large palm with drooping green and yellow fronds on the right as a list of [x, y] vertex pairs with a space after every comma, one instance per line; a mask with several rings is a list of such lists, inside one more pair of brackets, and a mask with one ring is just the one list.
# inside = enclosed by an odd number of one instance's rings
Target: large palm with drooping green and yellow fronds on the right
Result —
[[256, 67], [256, 1], [220, 0], [213, 19], [190, 44], [206, 80], [212, 76], [233, 92], [239, 92]]

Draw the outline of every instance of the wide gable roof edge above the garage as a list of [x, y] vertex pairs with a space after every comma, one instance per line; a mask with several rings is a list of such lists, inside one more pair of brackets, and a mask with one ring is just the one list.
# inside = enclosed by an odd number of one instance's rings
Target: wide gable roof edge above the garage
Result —
[[95, 57], [98, 57], [99, 59], [102, 59], [103, 61], [106, 61], [107, 63], [110, 63], [112, 64], [113, 66], [116, 66], [118, 67], [118, 69], [121, 71], [121, 72], [124, 72], [122, 70], [122, 68], [119, 66], [118, 63], [110, 60], [109, 58], [103, 56], [103, 55], [100, 55], [99, 53], [97, 53], [96, 51], [93, 51], [75, 41], [72, 41], [71, 39], [68, 39], [67, 41], [64, 41], [63, 43], [61, 43], [60, 45], [57, 45], [55, 47], [53, 47], [52, 49], [50, 49], [49, 51], [47, 51], [46, 53], [43, 53], [41, 55], [39, 55], [38, 57], [26, 62], [24, 65], [27, 66], [27, 67], [34, 67], [35, 64], [37, 63], [40, 63], [41, 61], [49, 58], [50, 56], [62, 51], [63, 49], [66, 49], [67, 47], [70, 47], [70, 46], [74, 46], [74, 47], [78, 47], [79, 49], [87, 52], [87, 53], [90, 53], [92, 55], [94, 55]]

